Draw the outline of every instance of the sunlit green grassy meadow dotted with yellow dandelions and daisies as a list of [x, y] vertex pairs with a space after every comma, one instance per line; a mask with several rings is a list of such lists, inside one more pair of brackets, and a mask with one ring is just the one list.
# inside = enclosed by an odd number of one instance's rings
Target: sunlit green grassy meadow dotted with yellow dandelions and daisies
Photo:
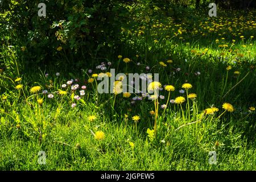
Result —
[[[26, 46], [2, 44], [0, 169], [255, 170], [256, 11], [126, 8], [119, 46], [82, 66], [63, 64], [61, 45], [26, 66]], [[98, 93], [110, 69], [145, 73], [159, 96], [123, 93], [122, 77]]]

